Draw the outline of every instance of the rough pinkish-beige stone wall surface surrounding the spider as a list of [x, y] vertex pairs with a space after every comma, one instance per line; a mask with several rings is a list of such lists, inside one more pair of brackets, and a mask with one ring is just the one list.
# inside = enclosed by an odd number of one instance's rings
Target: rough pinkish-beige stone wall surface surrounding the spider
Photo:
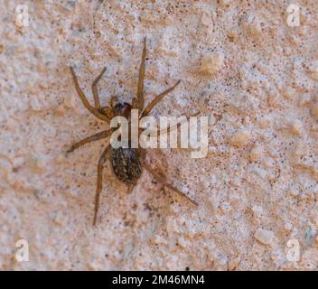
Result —
[[[15, 22], [19, 1], [0, 0], [1, 270], [317, 269], [316, 0], [297, 1], [299, 27], [278, 0], [23, 2], [28, 27]], [[104, 67], [102, 104], [130, 101], [145, 36], [146, 101], [182, 79], [154, 115], [210, 116], [206, 158], [147, 154], [200, 206], [158, 192], [147, 173], [126, 195], [107, 164], [93, 228], [107, 142], [65, 151], [107, 125], [81, 105], [68, 66], [90, 101]], [[248, 142], [232, 145], [238, 131]], [[259, 228], [275, 236], [270, 246], [255, 238]], [[14, 257], [21, 238], [29, 262]], [[286, 255], [290, 239], [297, 262]]]

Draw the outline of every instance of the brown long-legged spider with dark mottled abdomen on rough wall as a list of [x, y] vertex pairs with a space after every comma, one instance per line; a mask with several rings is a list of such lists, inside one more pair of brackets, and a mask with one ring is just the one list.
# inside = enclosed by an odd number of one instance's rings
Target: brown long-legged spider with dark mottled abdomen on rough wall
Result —
[[[131, 109], [138, 109], [140, 112], [140, 117], [147, 116], [150, 111], [154, 108], [154, 106], [161, 101], [165, 95], [167, 95], [170, 91], [172, 91], [181, 80], [178, 80], [172, 88], [164, 90], [161, 94], [156, 96], [144, 109], [144, 78], [145, 78], [145, 40], [144, 40], [144, 49], [142, 61], [139, 69], [139, 79], [138, 79], [138, 88], [137, 88], [137, 97], [133, 98], [132, 105], [124, 102], [117, 102], [117, 98], [112, 98], [110, 101], [110, 107], [101, 107], [98, 98], [98, 89], [97, 84], [99, 79], [101, 79], [105, 70], [102, 70], [98, 75], [98, 78], [94, 80], [92, 85], [92, 92], [94, 96], [95, 106], [92, 107], [89, 105], [89, 101], [86, 98], [84, 92], [79, 88], [79, 81], [74, 73], [74, 70], [70, 67], [70, 72], [74, 80], [75, 89], [79, 94], [79, 98], [81, 99], [84, 107], [89, 109], [89, 111], [98, 119], [110, 122], [112, 117], [121, 116], [129, 119]], [[116, 128], [117, 129], [117, 128]], [[99, 132], [98, 134], [91, 135], [81, 141], [79, 143], [73, 144], [67, 153], [71, 153], [74, 150], [78, 149], [83, 144], [88, 144], [93, 141], [98, 141], [100, 139], [106, 138], [112, 134], [115, 128], [110, 128], [108, 130]], [[130, 147], [130, 146], [129, 146]], [[94, 220], [93, 225], [96, 225], [97, 216], [98, 216], [98, 206], [99, 206], [99, 195], [102, 190], [102, 172], [103, 166], [107, 159], [110, 159], [110, 163], [112, 164], [113, 171], [115, 172], [117, 179], [125, 182], [128, 186], [128, 192], [133, 191], [137, 180], [140, 178], [142, 169], [145, 167], [145, 170], [150, 172], [157, 182], [161, 182], [164, 187], [167, 187], [173, 191], [176, 191], [179, 195], [190, 200], [192, 204], [197, 205], [194, 200], [191, 200], [188, 196], [179, 191], [177, 188], [173, 187], [172, 184], [166, 182], [166, 177], [162, 172], [155, 172], [153, 168], [151, 168], [147, 163], [145, 163], [145, 149], [142, 148], [113, 148], [110, 144], [108, 144], [107, 148], [101, 154], [98, 161], [98, 184], [96, 190], [95, 197], [95, 212], [94, 212]]]

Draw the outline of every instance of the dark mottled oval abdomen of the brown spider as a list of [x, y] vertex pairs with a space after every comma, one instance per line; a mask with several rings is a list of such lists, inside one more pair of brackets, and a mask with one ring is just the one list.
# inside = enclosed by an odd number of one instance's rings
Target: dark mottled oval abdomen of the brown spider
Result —
[[140, 178], [142, 165], [136, 149], [111, 148], [110, 160], [118, 180], [130, 184]]

